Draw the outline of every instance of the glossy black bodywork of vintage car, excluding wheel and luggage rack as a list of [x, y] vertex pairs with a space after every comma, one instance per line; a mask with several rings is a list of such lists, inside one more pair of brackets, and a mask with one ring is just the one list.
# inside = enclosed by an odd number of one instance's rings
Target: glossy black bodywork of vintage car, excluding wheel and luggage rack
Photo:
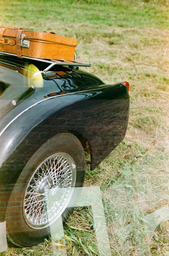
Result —
[[126, 134], [129, 94], [124, 83], [107, 85], [65, 65], [38, 72], [47, 66], [0, 54], [1, 221], [25, 165], [52, 137], [70, 133], [84, 149], [88, 143], [92, 171]]

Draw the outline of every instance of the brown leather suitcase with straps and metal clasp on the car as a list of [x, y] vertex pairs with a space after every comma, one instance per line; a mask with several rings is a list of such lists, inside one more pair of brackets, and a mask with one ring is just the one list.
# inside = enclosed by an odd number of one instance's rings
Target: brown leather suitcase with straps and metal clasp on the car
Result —
[[78, 39], [58, 36], [54, 32], [0, 27], [0, 52], [17, 54], [18, 58], [73, 61], [77, 44]]

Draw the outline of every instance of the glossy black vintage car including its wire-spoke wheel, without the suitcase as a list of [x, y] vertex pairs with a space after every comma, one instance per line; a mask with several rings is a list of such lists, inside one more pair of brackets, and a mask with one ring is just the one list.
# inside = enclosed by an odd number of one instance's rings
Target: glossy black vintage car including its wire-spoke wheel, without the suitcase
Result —
[[93, 171], [125, 137], [129, 84], [80, 66], [90, 64], [0, 54], [0, 222], [17, 246], [50, 236], [86, 163]]

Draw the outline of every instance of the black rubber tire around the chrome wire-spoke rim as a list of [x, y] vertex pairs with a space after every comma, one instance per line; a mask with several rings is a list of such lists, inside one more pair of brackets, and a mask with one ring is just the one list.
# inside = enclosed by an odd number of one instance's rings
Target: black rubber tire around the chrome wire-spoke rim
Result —
[[[73, 158], [76, 164], [75, 187], [83, 187], [86, 161], [81, 143], [71, 133], [60, 133], [55, 135], [44, 143], [30, 158], [19, 175], [8, 202], [6, 213], [7, 239], [19, 247], [37, 245], [41, 243], [44, 238], [50, 236], [50, 226], [41, 230], [36, 230], [27, 225], [23, 217], [23, 198], [31, 175], [36, 170], [37, 166], [44, 159], [58, 152], [67, 153]], [[72, 211], [72, 208], [66, 208], [62, 214], [63, 222]], [[53, 227], [56, 222], [52, 224]]]

